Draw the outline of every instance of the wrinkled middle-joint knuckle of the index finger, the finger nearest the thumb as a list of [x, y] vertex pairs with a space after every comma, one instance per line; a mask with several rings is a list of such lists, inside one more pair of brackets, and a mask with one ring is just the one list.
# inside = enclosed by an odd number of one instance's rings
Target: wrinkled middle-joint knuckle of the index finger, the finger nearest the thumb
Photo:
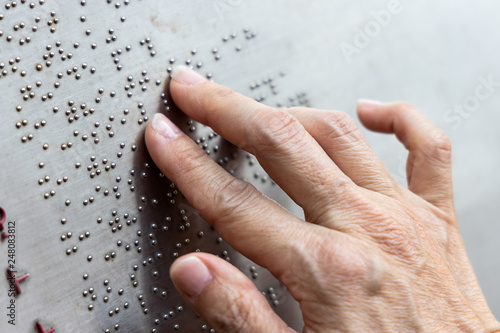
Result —
[[215, 179], [213, 183], [212, 203], [215, 209], [209, 219], [217, 229], [221, 223], [234, 221], [238, 214], [248, 211], [254, 203], [257, 190], [250, 183], [234, 177]]

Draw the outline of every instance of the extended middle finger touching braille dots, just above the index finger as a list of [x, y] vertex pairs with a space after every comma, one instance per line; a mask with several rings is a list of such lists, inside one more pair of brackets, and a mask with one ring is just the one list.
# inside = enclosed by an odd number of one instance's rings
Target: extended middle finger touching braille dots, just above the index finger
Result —
[[332, 205], [338, 206], [355, 191], [352, 180], [288, 112], [262, 105], [185, 67], [175, 70], [170, 91], [188, 116], [254, 154], [310, 222], [321, 223]]

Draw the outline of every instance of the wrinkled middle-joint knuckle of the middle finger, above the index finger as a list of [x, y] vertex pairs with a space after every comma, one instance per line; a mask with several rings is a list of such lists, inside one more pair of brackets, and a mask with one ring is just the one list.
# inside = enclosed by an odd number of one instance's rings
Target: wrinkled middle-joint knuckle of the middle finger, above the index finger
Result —
[[285, 110], [268, 108], [258, 112], [253, 126], [255, 148], [276, 149], [283, 144], [297, 144], [306, 131], [302, 124]]

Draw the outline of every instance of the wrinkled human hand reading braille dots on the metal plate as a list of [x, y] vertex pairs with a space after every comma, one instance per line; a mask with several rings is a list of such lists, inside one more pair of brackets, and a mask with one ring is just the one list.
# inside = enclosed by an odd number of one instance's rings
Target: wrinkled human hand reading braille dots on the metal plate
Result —
[[[163, 115], [146, 131], [158, 167], [237, 251], [267, 268], [300, 303], [304, 332], [492, 332], [453, 206], [451, 147], [404, 103], [362, 101], [361, 122], [409, 150], [399, 185], [344, 113], [276, 109], [177, 68], [178, 107], [254, 154], [305, 212], [293, 216], [237, 180]], [[193, 253], [170, 270], [217, 332], [292, 331], [238, 269]]]

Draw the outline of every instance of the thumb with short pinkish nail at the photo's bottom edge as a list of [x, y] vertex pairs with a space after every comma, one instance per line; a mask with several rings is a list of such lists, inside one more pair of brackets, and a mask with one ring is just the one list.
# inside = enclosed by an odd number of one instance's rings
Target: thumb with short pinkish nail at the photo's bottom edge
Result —
[[236, 267], [206, 253], [177, 259], [170, 277], [182, 297], [218, 333], [294, 332]]

